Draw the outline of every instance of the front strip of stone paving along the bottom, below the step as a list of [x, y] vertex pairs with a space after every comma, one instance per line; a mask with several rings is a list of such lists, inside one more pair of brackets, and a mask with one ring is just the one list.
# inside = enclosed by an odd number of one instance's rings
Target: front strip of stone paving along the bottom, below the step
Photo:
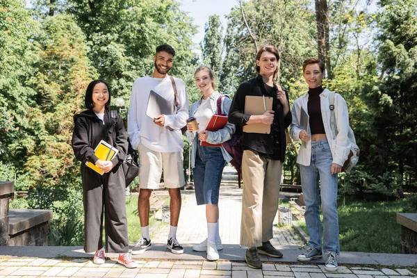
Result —
[[417, 268], [370, 268], [339, 266], [327, 272], [323, 265], [264, 263], [262, 270], [231, 261], [138, 261], [136, 269], [126, 269], [114, 260], [95, 265], [88, 259], [5, 258], [0, 259], [0, 278], [17, 277], [149, 277], [149, 278], [416, 278]]

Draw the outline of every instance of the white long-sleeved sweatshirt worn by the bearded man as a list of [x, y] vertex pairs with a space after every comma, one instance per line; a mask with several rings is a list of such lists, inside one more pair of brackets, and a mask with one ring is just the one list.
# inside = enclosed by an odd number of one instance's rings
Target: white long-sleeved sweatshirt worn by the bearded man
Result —
[[[156, 125], [154, 120], [146, 115], [146, 108], [151, 90], [174, 104], [174, 88], [172, 88], [170, 77], [167, 75], [163, 79], [158, 79], [143, 76], [133, 83], [127, 124], [133, 149], [138, 149], [139, 145], [143, 144], [155, 152], [183, 150], [181, 128], [187, 124], [188, 95], [186, 84], [181, 79], [174, 78], [174, 81], [177, 85], [179, 105], [177, 114], [164, 115], [165, 126]], [[170, 126], [174, 131], [170, 131], [166, 126]]]

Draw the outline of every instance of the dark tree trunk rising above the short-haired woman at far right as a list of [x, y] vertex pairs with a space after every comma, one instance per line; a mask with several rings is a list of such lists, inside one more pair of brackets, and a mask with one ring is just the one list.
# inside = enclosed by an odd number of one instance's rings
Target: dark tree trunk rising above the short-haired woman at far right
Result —
[[329, 45], [329, 18], [327, 17], [327, 0], [316, 1], [317, 24], [317, 52], [318, 58], [325, 63], [327, 78], [331, 78], [330, 45]]

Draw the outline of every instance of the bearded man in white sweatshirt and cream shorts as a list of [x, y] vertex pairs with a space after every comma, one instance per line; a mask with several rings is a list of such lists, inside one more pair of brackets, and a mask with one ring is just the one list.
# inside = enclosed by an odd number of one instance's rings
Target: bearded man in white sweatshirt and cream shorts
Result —
[[[188, 96], [185, 83], [167, 74], [174, 63], [174, 56], [175, 51], [170, 45], [156, 47], [154, 72], [151, 76], [136, 79], [132, 87], [128, 133], [133, 149], [139, 153], [138, 211], [142, 229], [142, 238], [131, 250], [132, 254], [142, 254], [152, 248], [149, 237], [149, 197], [153, 189], [159, 188], [162, 170], [164, 186], [170, 193], [171, 226], [167, 248], [174, 254], [183, 253], [183, 247], [176, 237], [181, 210], [179, 188], [185, 184], [181, 128], [186, 126], [188, 118]], [[154, 119], [148, 117], [146, 110], [151, 90], [172, 102], [177, 107], [177, 113], [158, 115]]]

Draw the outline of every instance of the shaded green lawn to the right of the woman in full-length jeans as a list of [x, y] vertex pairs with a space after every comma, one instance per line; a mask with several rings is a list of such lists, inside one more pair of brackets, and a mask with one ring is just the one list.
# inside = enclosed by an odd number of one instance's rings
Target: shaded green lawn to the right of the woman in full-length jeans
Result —
[[[345, 205], [338, 199], [341, 251], [400, 253], [401, 226], [396, 218], [407, 199], [384, 204], [347, 198]], [[307, 233], [304, 219], [298, 224]]]

